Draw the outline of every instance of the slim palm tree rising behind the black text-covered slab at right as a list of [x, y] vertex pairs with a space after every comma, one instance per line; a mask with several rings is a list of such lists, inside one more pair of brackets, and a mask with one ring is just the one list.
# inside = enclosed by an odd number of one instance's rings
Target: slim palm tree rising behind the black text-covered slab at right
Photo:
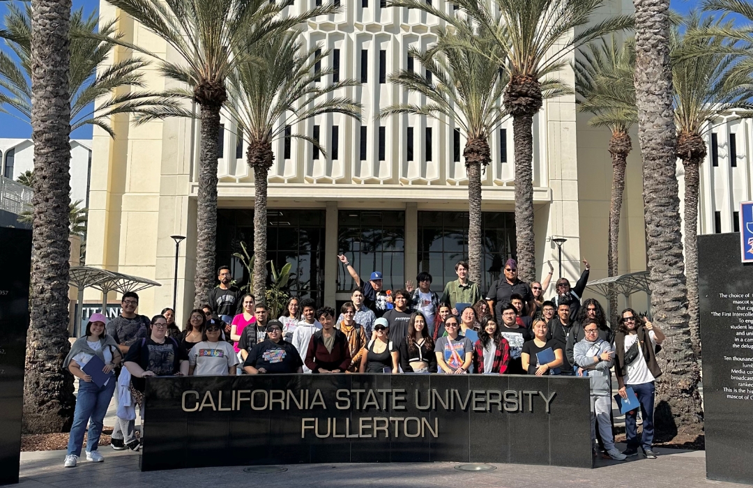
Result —
[[[700, 352], [698, 313], [698, 200], [700, 164], [706, 158], [706, 133], [711, 122], [730, 109], [749, 111], [753, 103], [751, 78], [737, 72], [739, 56], [724, 53], [730, 39], [703, 32], [733, 29], [733, 22], [701, 19], [691, 11], [672, 35], [672, 77], [675, 85], [675, 125], [677, 157], [685, 169], [684, 235], [685, 274], [687, 276], [687, 313], [690, 316], [691, 340]], [[748, 114], [749, 116], [749, 114]]]

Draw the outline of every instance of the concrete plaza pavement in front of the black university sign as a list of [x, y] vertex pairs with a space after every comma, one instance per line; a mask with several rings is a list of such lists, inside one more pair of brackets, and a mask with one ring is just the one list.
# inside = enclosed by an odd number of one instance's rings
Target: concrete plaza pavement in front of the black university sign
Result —
[[[622, 447], [623, 446], [618, 446]], [[566, 443], [562, 444], [566, 449]], [[114, 451], [101, 447], [105, 462], [80, 461], [76, 468], [63, 468], [65, 451], [21, 454], [21, 488], [60, 486], [127, 486], [128, 488], [473, 488], [519, 486], [578, 486], [611, 488], [641, 486], [669, 488], [746, 486], [706, 480], [703, 451], [657, 448], [658, 459], [615, 462], [599, 459], [596, 469], [559, 468], [556, 466], [494, 464], [493, 471], [459, 471], [460, 463], [388, 463], [388, 464], [318, 464], [288, 465], [278, 474], [248, 474], [243, 466], [229, 468], [194, 468], [173, 471], [139, 471], [139, 453]], [[85, 459], [85, 458], [84, 458]]]

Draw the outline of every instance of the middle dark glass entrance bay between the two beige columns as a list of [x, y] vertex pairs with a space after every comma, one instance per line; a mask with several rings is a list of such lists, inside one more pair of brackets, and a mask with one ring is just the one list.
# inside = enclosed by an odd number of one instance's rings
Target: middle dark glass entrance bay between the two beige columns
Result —
[[[384, 288], [405, 285], [405, 212], [340, 210], [337, 245], [353, 268], [367, 281], [372, 271], [383, 273]], [[337, 267], [337, 291], [352, 291], [355, 282], [345, 267]]]

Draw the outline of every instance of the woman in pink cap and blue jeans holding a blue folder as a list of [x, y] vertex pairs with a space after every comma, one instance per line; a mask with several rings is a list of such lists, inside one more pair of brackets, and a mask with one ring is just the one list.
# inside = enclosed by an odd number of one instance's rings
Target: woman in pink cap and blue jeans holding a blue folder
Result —
[[[105, 316], [101, 313], [93, 314], [87, 324], [84, 337], [79, 337], [73, 344], [71, 352], [66, 357], [63, 367], [67, 367], [75, 377], [78, 377], [78, 396], [73, 425], [68, 439], [66, 453], [66, 468], [74, 468], [81, 456], [81, 444], [84, 442], [84, 432], [87, 431], [87, 460], [102, 462], [104, 458], [99, 453], [99, 436], [102, 435], [102, 422], [115, 391], [117, 380], [113, 374], [116, 364], [120, 363], [120, 351], [112, 337], [105, 334]], [[86, 365], [97, 356], [105, 367], [102, 372], [110, 375], [102, 386], [98, 386], [92, 377], [84, 371]]]

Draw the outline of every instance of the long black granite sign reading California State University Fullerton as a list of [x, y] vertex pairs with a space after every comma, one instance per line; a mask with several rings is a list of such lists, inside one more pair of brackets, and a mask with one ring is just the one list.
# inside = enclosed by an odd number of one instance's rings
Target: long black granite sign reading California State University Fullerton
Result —
[[588, 380], [444, 374], [148, 378], [142, 470], [300, 462], [590, 468]]

